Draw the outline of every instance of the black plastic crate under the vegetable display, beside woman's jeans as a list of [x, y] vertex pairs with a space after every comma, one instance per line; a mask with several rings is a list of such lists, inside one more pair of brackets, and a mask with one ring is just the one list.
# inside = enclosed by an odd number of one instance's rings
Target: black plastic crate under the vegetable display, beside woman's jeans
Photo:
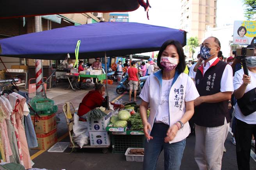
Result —
[[112, 153], [125, 153], [131, 148], [144, 148], [145, 135], [111, 135]]

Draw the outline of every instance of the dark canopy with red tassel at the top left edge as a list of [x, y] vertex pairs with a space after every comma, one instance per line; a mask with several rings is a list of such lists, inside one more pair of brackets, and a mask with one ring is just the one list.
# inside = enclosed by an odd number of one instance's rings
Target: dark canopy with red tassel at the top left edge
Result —
[[0, 18], [84, 12], [135, 11], [143, 0], [1, 0]]

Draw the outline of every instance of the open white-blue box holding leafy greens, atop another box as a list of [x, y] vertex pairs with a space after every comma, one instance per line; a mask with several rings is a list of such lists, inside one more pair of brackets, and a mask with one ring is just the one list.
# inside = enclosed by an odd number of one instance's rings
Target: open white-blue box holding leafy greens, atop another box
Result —
[[110, 124], [111, 110], [104, 111], [107, 116], [100, 120], [91, 119], [88, 121], [88, 131], [106, 131], [108, 124]]

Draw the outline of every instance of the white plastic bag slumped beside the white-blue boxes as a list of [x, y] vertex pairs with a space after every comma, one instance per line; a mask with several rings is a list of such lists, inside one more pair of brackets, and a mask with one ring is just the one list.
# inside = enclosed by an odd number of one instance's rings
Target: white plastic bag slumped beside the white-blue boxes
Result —
[[82, 148], [89, 143], [89, 132], [87, 122], [79, 121], [79, 116], [74, 114], [73, 141]]

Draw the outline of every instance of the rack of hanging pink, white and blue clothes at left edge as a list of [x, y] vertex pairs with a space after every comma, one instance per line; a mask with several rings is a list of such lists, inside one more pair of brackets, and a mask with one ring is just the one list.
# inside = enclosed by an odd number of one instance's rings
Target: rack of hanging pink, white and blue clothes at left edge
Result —
[[[0, 159], [30, 169], [32, 161], [28, 148], [38, 146], [27, 105], [30, 98], [27, 92], [19, 91], [11, 83], [13, 81], [4, 80], [6, 84], [0, 86]], [[12, 84], [12, 87], [2, 91], [7, 84]]]

